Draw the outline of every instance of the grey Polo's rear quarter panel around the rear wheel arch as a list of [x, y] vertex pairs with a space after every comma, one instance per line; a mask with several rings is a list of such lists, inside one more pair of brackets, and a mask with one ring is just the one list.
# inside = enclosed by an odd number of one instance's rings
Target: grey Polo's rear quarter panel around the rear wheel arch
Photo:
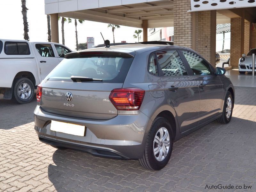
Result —
[[[150, 118], [150, 121], [148, 121], [148, 124], [145, 127], [145, 134], [143, 139], [144, 144], [154, 119], [162, 111], [170, 111], [172, 113], [176, 124], [176, 136], [180, 132], [176, 113], [168, 95], [163, 92], [161, 97], [153, 97], [153, 95], [155, 95], [154, 93], [156, 93], [156, 95], [159, 95], [159, 91], [162, 91], [163, 87], [161, 86], [160, 77], [148, 73], [148, 60], [151, 53], [152, 51], [140, 54], [136, 53], [131, 68], [123, 84], [123, 88], [138, 87], [145, 90], [145, 96], [140, 107], [140, 111], [148, 116]], [[151, 90], [149, 89], [149, 87]]]

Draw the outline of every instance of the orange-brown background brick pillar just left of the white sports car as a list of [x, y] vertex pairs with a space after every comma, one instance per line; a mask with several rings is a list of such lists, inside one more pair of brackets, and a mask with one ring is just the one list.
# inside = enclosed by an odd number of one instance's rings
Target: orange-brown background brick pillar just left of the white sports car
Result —
[[244, 19], [231, 18], [230, 66], [238, 68], [239, 58], [244, 53]]

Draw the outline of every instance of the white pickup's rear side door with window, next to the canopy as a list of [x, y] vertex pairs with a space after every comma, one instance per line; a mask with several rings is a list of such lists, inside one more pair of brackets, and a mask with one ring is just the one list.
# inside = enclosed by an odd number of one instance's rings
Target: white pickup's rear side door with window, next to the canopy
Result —
[[60, 61], [59, 58], [55, 56], [51, 43], [35, 43], [34, 48], [39, 63], [40, 76], [43, 80]]

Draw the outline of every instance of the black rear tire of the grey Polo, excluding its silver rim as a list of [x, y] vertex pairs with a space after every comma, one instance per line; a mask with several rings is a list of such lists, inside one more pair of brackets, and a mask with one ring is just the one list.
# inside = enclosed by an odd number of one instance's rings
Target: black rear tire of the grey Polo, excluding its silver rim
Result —
[[[169, 132], [169, 136], [170, 136], [170, 148], [168, 151], [167, 156], [165, 157], [165, 159], [161, 162], [157, 161], [155, 156], [154, 156], [154, 148], [153, 148], [153, 144], [154, 144], [154, 139], [155, 139], [155, 135], [157, 133], [157, 131], [161, 128], [161, 127], [165, 127], [168, 132]], [[149, 135], [149, 139], [148, 139], [148, 160], [150, 163], [150, 166], [154, 169], [154, 170], [160, 170], [162, 168], [164, 168], [164, 166], [169, 162], [170, 157], [172, 155], [172, 147], [173, 147], [173, 134], [172, 134], [172, 128], [171, 125], [169, 124], [169, 122], [165, 119], [165, 118], [159, 118], [151, 127], [151, 133]]]

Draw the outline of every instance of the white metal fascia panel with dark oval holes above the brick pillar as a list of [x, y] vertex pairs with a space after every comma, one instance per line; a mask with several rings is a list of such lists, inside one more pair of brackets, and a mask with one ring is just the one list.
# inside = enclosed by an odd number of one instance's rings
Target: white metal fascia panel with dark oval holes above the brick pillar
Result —
[[192, 11], [255, 7], [256, 0], [191, 0]]

